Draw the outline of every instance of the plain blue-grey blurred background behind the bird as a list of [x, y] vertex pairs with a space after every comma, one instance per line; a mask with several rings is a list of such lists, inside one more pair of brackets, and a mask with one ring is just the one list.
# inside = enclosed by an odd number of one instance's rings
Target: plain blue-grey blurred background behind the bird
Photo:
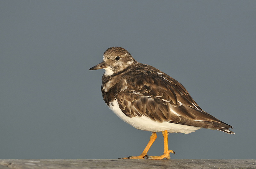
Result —
[[[139, 155], [151, 133], [111, 112], [104, 70], [88, 70], [112, 46], [234, 127], [170, 133], [171, 158], [256, 158], [256, 1], [6, 0], [0, 24], [0, 158]], [[148, 155], [163, 153], [157, 135]]]

